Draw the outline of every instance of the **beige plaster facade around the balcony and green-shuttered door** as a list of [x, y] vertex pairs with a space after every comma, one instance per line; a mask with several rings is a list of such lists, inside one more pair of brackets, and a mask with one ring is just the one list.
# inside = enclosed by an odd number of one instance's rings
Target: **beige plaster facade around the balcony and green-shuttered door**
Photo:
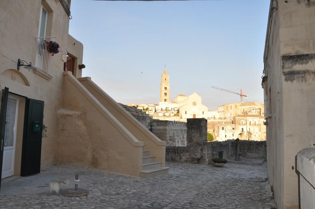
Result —
[[[36, 62], [36, 37], [41, 3], [49, 12], [46, 36], [57, 37], [54, 41], [59, 43], [60, 50], [66, 50], [69, 17], [60, 3], [54, 0], [0, 1], [0, 89], [8, 87], [12, 93], [45, 102], [44, 123], [48, 129], [47, 138], [42, 139], [41, 169], [44, 169], [54, 165], [57, 111], [61, 107], [64, 92], [62, 88], [64, 52], [54, 55], [54, 77], [51, 80], [46, 80], [23, 67], [20, 71], [16, 70], [19, 58], [33, 65]], [[15, 81], [12, 74], [17, 76]]]

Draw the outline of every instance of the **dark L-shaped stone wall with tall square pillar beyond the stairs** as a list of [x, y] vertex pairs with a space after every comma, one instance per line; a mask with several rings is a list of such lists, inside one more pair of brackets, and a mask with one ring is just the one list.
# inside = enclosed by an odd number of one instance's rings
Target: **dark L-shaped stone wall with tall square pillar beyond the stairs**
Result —
[[187, 146], [166, 146], [166, 161], [207, 164], [207, 120], [187, 119]]

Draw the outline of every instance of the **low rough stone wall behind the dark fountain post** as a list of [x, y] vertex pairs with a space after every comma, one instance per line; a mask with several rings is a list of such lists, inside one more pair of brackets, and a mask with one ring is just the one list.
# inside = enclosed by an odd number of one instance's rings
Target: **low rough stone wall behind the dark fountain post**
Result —
[[[223, 158], [228, 159], [235, 157], [235, 140], [228, 139], [223, 142], [208, 142], [211, 152], [208, 153], [208, 158], [219, 157], [219, 152], [223, 151]], [[266, 141], [251, 141], [251, 140], [240, 140], [239, 148], [241, 157], [246, 158], [266, 158]], [[210, 155], [210, 156], [209, 156]]]

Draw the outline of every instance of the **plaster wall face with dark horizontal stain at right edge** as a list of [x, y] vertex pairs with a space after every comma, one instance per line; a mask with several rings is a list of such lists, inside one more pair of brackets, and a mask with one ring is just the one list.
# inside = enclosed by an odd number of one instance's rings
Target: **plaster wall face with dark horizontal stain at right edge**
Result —
[[283, 110], [290, 113], [283, 118], [283, 207], [290, 209], [298, 208], [299, 202], [298, 175], [291, 167], [295, 167], [298, 151], [310, 147], [310, 125], [315, 124], [314, 3], [313, 0], [279, 2]]

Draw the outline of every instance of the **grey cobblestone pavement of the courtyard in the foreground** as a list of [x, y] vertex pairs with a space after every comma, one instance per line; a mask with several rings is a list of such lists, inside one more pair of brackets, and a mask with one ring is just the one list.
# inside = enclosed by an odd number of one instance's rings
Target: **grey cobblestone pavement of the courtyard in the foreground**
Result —
[[[169, 174], [134, 178], [94, 169], [53, 166], [40, 174], [1, 185], [0, 208], [275, 208], [266, 181], [267, 166], [224, 167], [167, 162]], [[66, 197], [49, 191], [49, 181], [79, 174], [89, 195]]]

